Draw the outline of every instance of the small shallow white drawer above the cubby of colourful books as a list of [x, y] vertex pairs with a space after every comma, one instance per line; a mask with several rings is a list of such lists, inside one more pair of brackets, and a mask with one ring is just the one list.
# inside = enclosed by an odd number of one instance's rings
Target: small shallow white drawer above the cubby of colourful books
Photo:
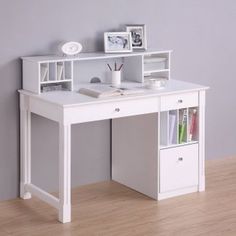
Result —
[[161, 111], [198, 106], [198, 92], [180, 93], [161, 97]]

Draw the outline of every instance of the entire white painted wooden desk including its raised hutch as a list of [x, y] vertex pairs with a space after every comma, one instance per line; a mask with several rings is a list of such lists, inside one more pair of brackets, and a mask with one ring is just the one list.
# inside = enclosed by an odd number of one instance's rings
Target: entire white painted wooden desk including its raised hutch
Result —
[[[131, 54], [80, 54], [79, 57], [24, 58], [24, 86], [21, 90], [21, 197], [30, 198], [33, 193], [59, 210], [59, 221], [71, 221], [71, 124], [113, 119], [112, 178], [154, 199], [164, 199], [205, 189], [205, 90], [207, 87], [168, 80], [162, 90], [144, 90], [134, 96], [96, 99], [75, 92], [40, 93], [40, 63], [49, 63], [56, 76], [57, 63], [68, 63], [71, 80], [63, 81], [63, 87], [73, 90], [74, 63], [87, 61], [89, 67], [100, 60], [124, 61], [122, 86], [142, 88], [145, 55], [166, 56], [164, 70], [153, 69], [148, 73], [164, 75], [170, 79], [170, 51], [145, 51]], [[103, 60], [103, 61], [102, 61]], [[106, 63], [105, 63], [106, 64]], [[80, 71], [81, 72], [81, 71]], [[84, 70], [84, 74], [86, 74]], [[65, 78], [65, 74], [63, 75]], [[32, 79], [33, 78], [33, 79]], [[88, 76], [89, 78], [89, 76]], [[54, 83], [62, 81], [49, 81]], [[77, 83], [79, 81], [76, 81]], [[81, 85], [89, 86], [89, 84]], [[32, 91], [33, 94], [28, 91]], [[199, 144], [168, 145], [168, 114], [170, 110], [199, 106]], [[158, 113], [164, 111], [164, 113]], [[59, 123], [59, 199], [31, 184], [30, 114], [44, 116]], [[150, 114], [153, 113], [153, 114]], [[158, 113], [158, 115], [157, 115]], [[178, 114], [178, 112], [177, 112]], [[144, 115], [144, 116], [136, 116]], [[119, 119], [116, 119], [119, 118]], [[178, 117], [177, 117], [178, 119]], [[177, 122], [178, 124], [178, 122]], [[178, 134], [178, 126], [176, 127]], [[166, 142], [163, 142], [163, 138]], [[165, 144], [161, 146], [161, 144]], [[181, 155], [181, 156], [179, 156]], [[178, 158], [183, 158], [183, 161]]]

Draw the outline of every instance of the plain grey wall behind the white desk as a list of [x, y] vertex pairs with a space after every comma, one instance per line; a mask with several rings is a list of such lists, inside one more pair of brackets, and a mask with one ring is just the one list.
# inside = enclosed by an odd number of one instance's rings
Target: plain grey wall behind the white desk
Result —
[[[61, 40], [79, 41], [84, 51], [102, 50], [103, 32], [126, 23], [147, 25], [149, 47], [174, 50], [173, 78], [211, 87], [207, 158], [235, 155], [235, 12], [234, 0], [0, 0], [0, 199], [19, 190], [19, 57], [53, 53]], [[32, 125], [33, 181], [55, 190], [57, 125], [36, 116]], [[109, 121], [74, 127], [74, 186], [109, 178], [109, 132]]]

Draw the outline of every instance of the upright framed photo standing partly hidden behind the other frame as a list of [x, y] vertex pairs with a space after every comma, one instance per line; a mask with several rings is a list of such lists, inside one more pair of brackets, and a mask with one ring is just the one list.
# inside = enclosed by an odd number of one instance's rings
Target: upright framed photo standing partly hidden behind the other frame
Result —
[[126, 31], [131, 33], [133, 49], [147, 49], [146, 25], [126, 25]]

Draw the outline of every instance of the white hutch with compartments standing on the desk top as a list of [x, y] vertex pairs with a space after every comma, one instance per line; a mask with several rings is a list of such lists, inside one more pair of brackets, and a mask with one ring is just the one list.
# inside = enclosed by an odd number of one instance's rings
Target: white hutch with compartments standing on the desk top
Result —
[[[23, 58], [23, 89], [40, 94], [57, 89], [78, 90], [94, 77], [111, 83], [111, 71], [122, 65], [121, 82], [144, 83], [150, 78], [170, 79], [171, 51], [120, 54], [81, 53], [77, 57]], [[56, 86], [58, 85], [58, 86]], [[50, 89], [51, 87], [51, 89]]]

